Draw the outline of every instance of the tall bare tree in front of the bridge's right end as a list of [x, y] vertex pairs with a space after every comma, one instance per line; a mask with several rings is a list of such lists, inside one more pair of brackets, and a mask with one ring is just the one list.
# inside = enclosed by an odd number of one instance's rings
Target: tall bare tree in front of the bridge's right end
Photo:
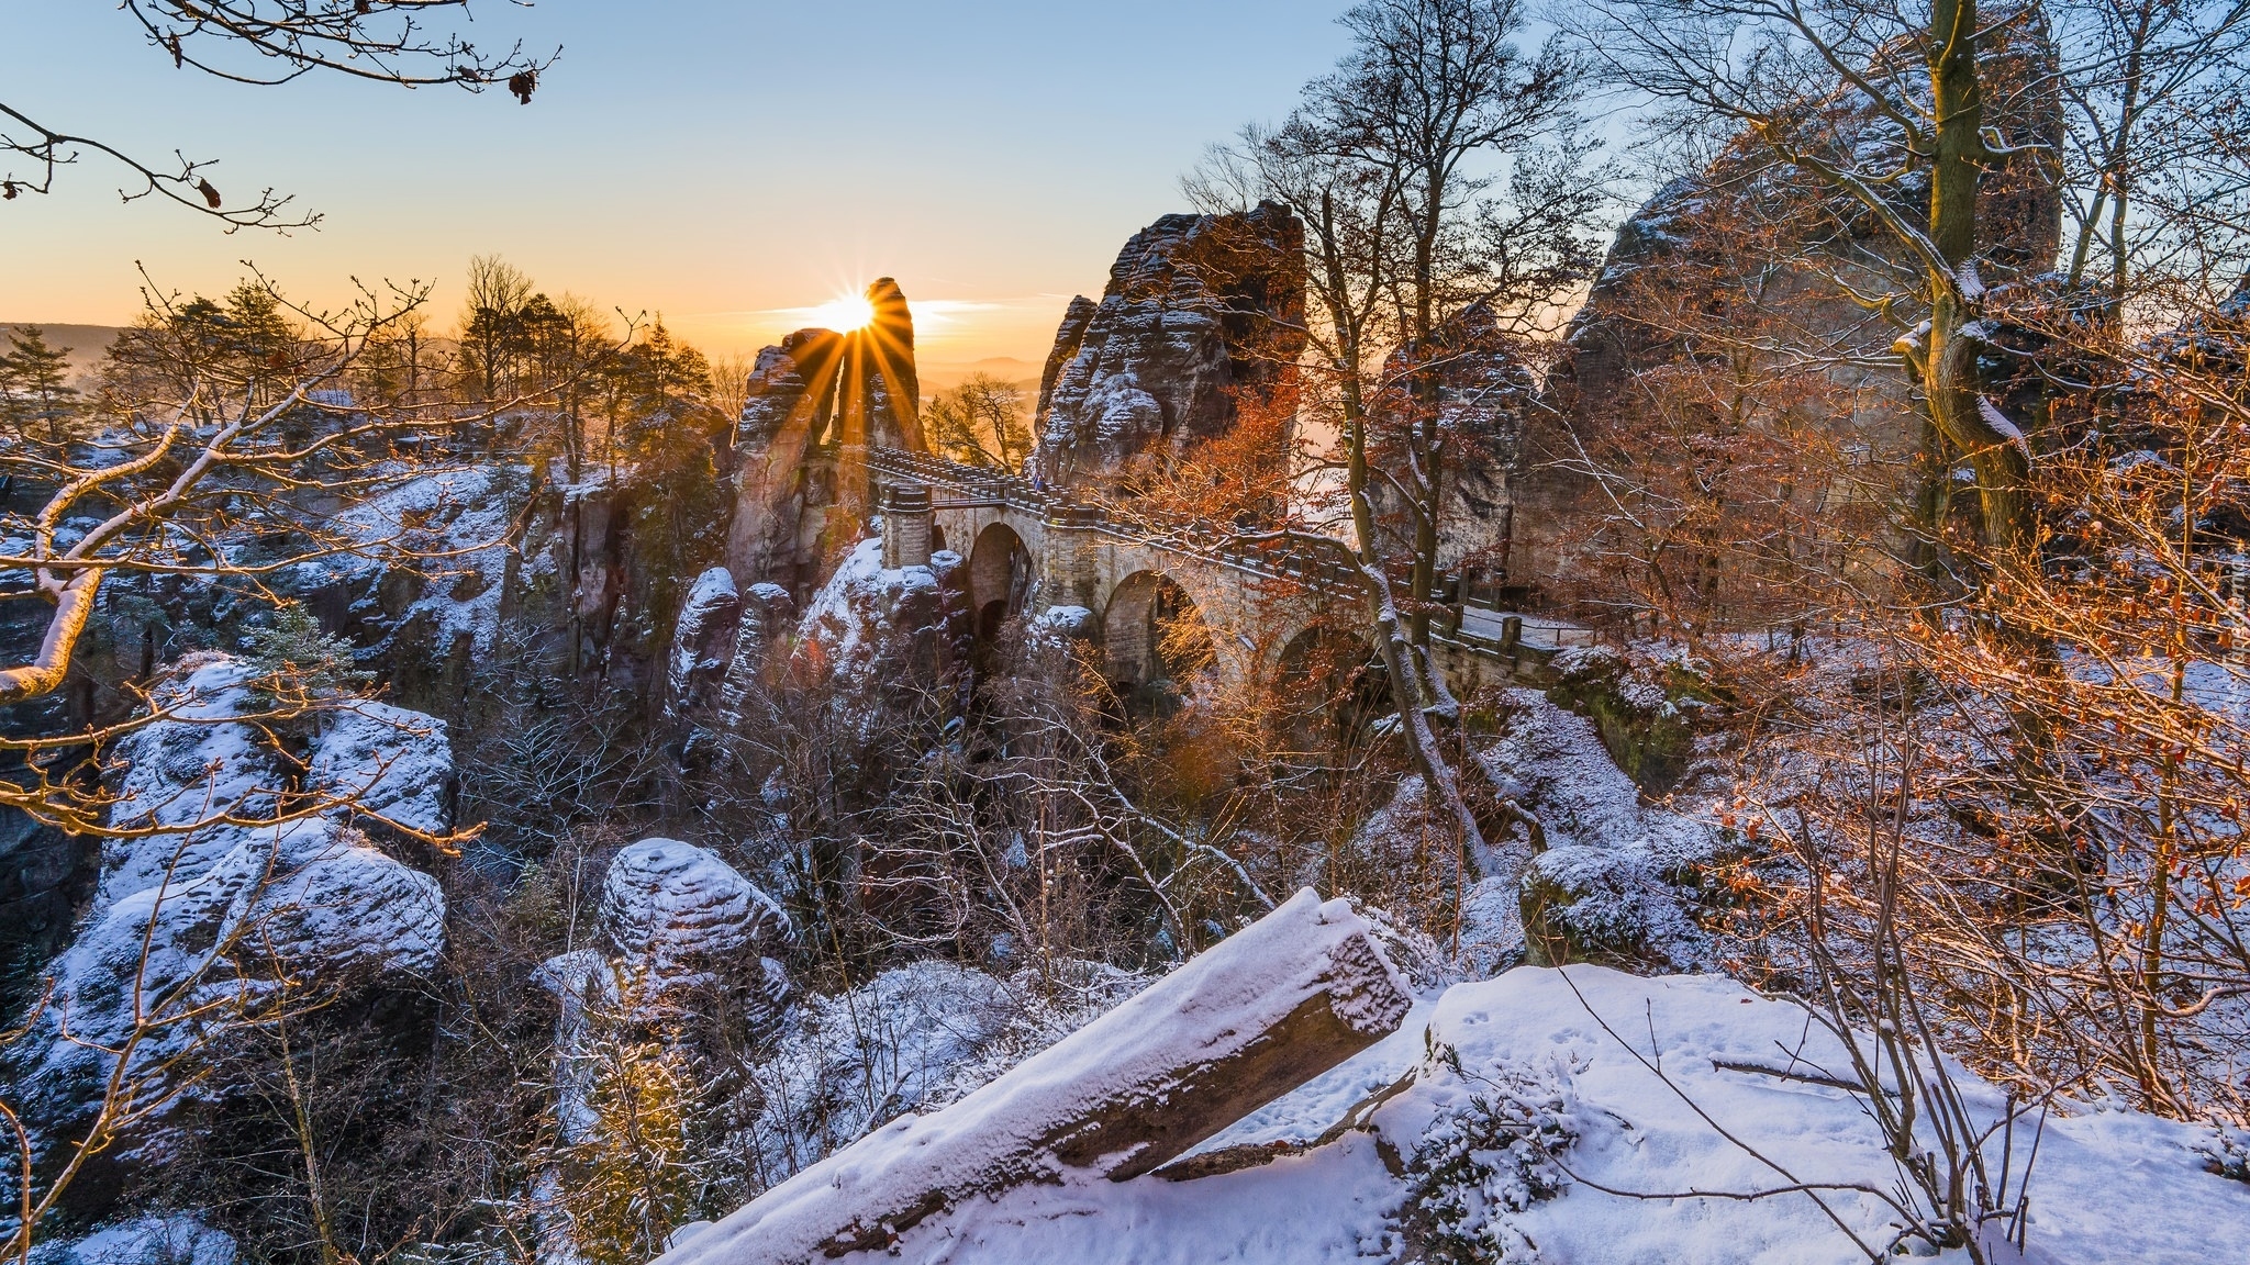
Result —
[[[1408, 750], [1483, 853], [1424, 711], [1454, 702], [1426, 639], [1447, 470], [1465, 446], [1436, 407], [1440, 333], [1474, 304], [1532, 320], [1591, 263], [1598, 178], [1573, 113], [1582, 68], [1552, 43], [1534, 56], [1516, 47], [1516, 0], [1370, 0], [1343, 25], [1352, 52], [1334, 74], [1310, 83], [1282, 126], [1213, 151], [1188, 191], [1206, 207], [1274, 198], [1305, 221], [1305, 403], [1334, 425], [1352, 560]], [[1415, 407], [1386, 414], [1393, 389]], [[1404, 556], [1386, 547], [1386, 504], [1406, 506]]]

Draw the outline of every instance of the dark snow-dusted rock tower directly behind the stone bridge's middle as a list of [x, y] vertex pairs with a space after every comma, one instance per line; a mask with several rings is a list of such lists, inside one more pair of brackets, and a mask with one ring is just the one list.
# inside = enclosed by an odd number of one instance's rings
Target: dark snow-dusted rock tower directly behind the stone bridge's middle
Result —
[[1109, 268], [1100, 302], [1071, 299], [1040, 378], [1035, 470], [1107, 486], [1224, 434], [1246, 396], [1274, 396], [1303, 349], [1305, 227], [1262, 203], [1163, 216]]

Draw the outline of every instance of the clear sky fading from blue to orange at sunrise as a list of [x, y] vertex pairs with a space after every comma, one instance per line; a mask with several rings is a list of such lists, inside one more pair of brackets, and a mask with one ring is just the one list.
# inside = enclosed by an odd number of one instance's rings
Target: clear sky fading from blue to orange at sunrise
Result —
[[[326, 218], [241, 232], [119, 205], [88, 158], [0, 203], [0, 322], [122, 324], [135, 261], [216, 293], [256, 261], [299, 295], [459, 277], [500, 252], [547, 290], [662, 311], [752, 351], [893, 275], [922, 358], [1037, 362], [1073, 293], [1181, 209], [1204, 144], [1287, 110], [1343, 50], [1346, 0], [484, 0], [472, 38], [562, 45], [506, 92], [180, 72], [112, 5], [0, 0], [0, 99], [142, 155], [220, 158], [230, 203], [274, 185]], [[18, 164], [20, 167], [20, 164]]]

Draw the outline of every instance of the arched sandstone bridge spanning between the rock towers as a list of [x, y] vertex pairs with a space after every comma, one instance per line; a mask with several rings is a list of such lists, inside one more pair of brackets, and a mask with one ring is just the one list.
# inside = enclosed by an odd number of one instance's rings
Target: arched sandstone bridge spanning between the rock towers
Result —
[[[1323, 610], [1368, 601], [1336, 540], [1123, 520], [1022, 477], [900, 448], [839, 457], [864, 461], [886, 567], [925, 565], [936, 549], [961, 554], [979, 639], [1026, 612], [1078, 623], [1123, 687], [1168, 675], [1159, 626], [1186, 608], [1210, 632], [1220, 673], [1244, 682], [1305, 662], [1318, 637], [1334, 635], [1316, 626]], [[1485, 614], [1454, 608], [1431, 637], [1454, 691], [1544, 678], [1555, 648], [1526, 644], [1516, 619]]]

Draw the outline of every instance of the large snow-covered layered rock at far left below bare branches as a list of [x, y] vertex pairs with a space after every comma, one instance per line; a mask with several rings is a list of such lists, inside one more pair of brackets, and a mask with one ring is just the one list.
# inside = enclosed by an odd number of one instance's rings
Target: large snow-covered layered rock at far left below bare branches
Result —
[[[43, 1146], [86, 1123], [119, 1051], [146, 1101], [182, 1094], [124, 1139], [130, 1157], [173, 1110], [227, 1092], [198, 1076], [230, 1029], [400, 1002], [439, 966], [446, 898], [398, 860], [428, 849], [392, 826], [450, 828], [446, 725], [380, 702], [281, 725], [254, 680], [241, 660], [189, 657], [155, 687], [171, 718], [119, 747], [110, 826], [182, 833], [108, 842], [92, 909], [50, 968], [54, 999], [7, 1053], [36, 1087], [20, 1105]], [[333, 808], [256, 824], [322, 801]]]

